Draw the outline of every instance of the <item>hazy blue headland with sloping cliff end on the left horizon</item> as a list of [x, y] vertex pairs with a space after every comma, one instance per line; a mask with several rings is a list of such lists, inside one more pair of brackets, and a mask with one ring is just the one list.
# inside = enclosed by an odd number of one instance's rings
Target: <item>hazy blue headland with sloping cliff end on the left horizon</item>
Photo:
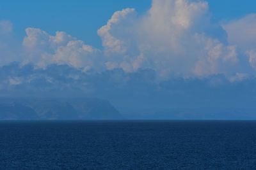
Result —
[[0, 99], [0, 120], [115, 120], [122, 116], [104, 99]]

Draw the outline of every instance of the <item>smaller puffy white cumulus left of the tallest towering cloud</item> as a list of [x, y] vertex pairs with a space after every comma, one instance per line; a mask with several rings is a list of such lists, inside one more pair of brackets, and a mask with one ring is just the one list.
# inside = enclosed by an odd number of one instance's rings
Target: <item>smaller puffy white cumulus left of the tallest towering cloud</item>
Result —
[[49, 64], [68, 64], [74, 67], [87, 69], [97, 68], [100, 50], [84, 44], [65, 32], [56, 32], [55, 36], [49, 35], [40, 29], [26, 29], [24, 38], [24, 62], [35, 63], [45, 67]]

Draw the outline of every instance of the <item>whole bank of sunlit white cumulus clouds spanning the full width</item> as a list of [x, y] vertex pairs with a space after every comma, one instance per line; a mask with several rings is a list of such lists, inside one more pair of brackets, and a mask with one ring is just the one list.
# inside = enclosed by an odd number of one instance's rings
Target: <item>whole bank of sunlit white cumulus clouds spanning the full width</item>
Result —
[[[0, 41], [0, 62], [18, 61], [37, 67], [67, 64], [83, 71], [140, 69], [158, 78], [224, 74], [230, 81], [247, 78], [256, 69], [256, 15], [221, 25], [206, 1], [153, 0], [143, 14], [127, 8], [116, 11], [98, 34], [102, 50], [57, 31], [50, 35], [28, 27], [19, 53]], [[0, 21], [0, 37], [12, 34], [12, 23]], [[7, 50], [6, 50], [7, 49]], [[19, 83], [12, 80], [12, 83]]]

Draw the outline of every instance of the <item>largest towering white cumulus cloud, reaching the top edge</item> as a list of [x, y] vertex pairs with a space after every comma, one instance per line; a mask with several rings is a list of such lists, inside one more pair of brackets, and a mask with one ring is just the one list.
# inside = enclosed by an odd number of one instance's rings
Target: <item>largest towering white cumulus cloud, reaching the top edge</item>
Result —
[[118, 56], [108, 65], [129, 72], [148, 67], [161, 76], [230, 74], [224, 68], [239, 60], [205, 1], [154, 0], [142, 17], [130, 8], [117, 11], [98, 34], [105, 52]]

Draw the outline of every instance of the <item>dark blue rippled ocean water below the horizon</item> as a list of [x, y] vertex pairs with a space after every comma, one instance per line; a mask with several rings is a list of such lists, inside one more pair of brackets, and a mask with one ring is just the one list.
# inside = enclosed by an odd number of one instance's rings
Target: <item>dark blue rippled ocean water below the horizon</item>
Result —
[[0, 169], [256, 169], [253, 121], [3, 121], [0, 135]]

